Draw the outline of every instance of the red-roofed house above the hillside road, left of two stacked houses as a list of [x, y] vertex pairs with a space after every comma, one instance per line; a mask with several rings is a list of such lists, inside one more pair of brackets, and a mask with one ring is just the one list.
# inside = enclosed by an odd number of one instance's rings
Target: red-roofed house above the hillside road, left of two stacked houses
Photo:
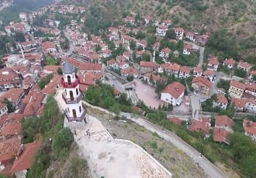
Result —
[[209, 135], [209, 128], [211, 127], [209, 118], [202, 119], [192, 119], [189, 130], [193, 132], [204, 132], [204, 134]]

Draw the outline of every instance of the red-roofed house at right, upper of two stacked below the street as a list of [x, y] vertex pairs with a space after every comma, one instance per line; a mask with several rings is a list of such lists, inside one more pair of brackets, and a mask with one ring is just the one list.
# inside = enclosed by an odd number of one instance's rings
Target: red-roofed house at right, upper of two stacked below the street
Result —
[[233, 132], [234, 121], [227, 115], [215, 116], [215, 128], [223, 128], [227, 131]]

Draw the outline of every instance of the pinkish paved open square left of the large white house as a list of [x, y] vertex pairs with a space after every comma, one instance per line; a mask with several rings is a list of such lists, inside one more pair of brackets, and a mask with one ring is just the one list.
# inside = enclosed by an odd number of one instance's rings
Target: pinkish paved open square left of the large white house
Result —
[[159, 104], [164, 104], [158, 97], [157, 94], [154, 93], [154, 87], [151, 87], [148, 84], [144, 84], [142, 81], [138, 80], [137, 85], [135, 87], [135, 93], [137, 94], [137, 98], [141, 101], [144, 101], [148, 107], [158, 108]]

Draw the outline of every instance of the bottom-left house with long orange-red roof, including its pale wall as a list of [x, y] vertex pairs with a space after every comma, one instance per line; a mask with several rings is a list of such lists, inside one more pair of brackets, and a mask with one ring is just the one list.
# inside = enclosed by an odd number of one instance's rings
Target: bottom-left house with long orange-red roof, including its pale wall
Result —
[[41, 142], [30, 142], [22, 144], [12, 165], [12, 173], [16, 177], [25, 177], [36, 158], [36, 152], [40, 149]]

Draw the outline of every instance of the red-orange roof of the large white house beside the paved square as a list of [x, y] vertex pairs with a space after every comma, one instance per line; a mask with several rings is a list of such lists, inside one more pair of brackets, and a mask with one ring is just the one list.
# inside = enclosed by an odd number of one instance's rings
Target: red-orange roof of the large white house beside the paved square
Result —
[[182, 93], [184, 93], [184, 91], [185, 91], [185, 86], [179, 83], [178, 81], [175, 81], [175, 82], [172, 82], [171, 84], [168, 84], [168, 86], [166, 86], [161, 93], [171, 94], [173, 98], [178, 99], [182, 95]]

